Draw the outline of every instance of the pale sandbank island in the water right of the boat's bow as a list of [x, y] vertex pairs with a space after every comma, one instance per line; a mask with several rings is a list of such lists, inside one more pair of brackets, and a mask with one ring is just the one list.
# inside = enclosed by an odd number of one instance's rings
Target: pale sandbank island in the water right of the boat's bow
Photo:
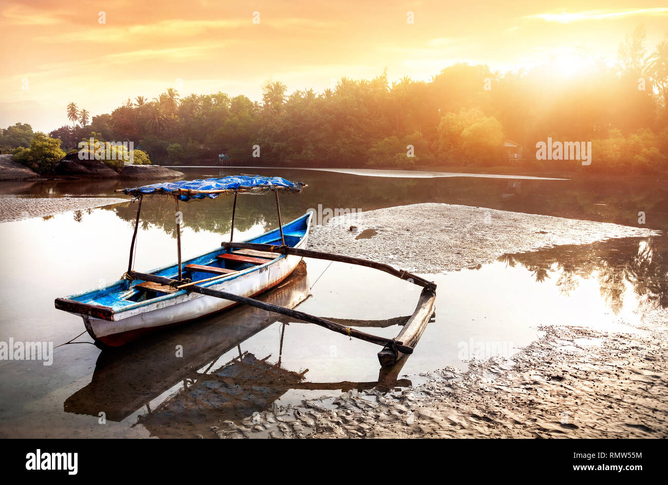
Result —
[[[357, 231], [350, 231], [351, 225]], [[363, 231], [374, 235], [359, 237]], [[435, 274], [478, 266], [508, 253], [651, 235], [661, 231], [469, 205], [419, 203], [339, 215], [325, 225], [314, 222], [309, 248], [368, 260], [383, 255], [383, 262], [401, 270]]]

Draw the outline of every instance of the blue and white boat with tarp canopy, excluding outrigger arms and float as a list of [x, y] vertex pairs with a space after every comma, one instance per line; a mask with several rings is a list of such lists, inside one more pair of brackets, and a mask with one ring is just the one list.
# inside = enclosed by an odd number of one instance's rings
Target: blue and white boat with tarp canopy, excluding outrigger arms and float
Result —
[[[186, 290], [197, 284], [201, 288], [222, 290], [239, 296], [253, 297], [285, 280], [302, 260], [301, 256], [218, 247], [210, 252], [180, 261], [180, 221], [177, 219], [178, 262], [157, 268], [148, 275], [168, 278], [179, 285], [158, 284], [138, 279], [132, 271], [132, 253], [139, 225], [142, 197], [147, 194], [170, 195], [178, 202], [191, 199], [215, 198], [221, 193], [234, 194], [234, 211], [238, 193], [279, 192], [301, 193], [305, 184], [281, 177], [240, 175], [218, 179], [202, 179], [156, 183], [143, 187], [122, 189], [138, 201], [137, 220], [130, 247], [130, 262], [125, 278], [104, 288], [57, 298], [55, 308], [83, 318], [88, 334], [98, 346], [121, 346], [158, 328], [194, 320], [236, 305], [236, 302], [206, 296]], [[278, 205], [277, 205], [278, 208]], [[307, 246], [311, 213], [257, 237], [246, 243], [287, 246], [304, 249]], [[146, 276], [144, 278], [147, 278]]]

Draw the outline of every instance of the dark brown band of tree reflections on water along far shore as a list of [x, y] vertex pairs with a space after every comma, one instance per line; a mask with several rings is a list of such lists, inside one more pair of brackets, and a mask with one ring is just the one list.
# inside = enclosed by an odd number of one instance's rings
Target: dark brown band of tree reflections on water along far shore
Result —
[[[222, 177], [251, 169], [216, 168], [181, 169], [187, 179]], [[518, 178], [396, 178], [365, 177], [348, 173], [300, 169], [252, 169], [260, 175], [281, 175], [288, 179], [309, 184], [303, 195], [285, 197], [281, 204], [286, 216], [294, 219], [309, 207], [347, 207], [362, 210], [393, 207], [422, 202], [456, 203], [489, 207], [506, 211], [574, 217], [595, 221], [614, 222], [639, 226], [638, 212], [647, 214], [647, 227], [668, 229], [668, 187], [658, 180], [571, 179], [532, 180]], [[60, 180], [39, 182], [0, 182], [1, 194], [18, 194], [30, 197], [62, 197], [64, 195], [117, 196], [114, 189], [127, 185], [154, 183], [155, 181], [121, 180]], [[244, 197], [244, 205], [257, 207], [253, 213], [273, 215], [271, 201], [267, 197]], [[150, 204], [147, 204], [150, 205]], [[184, 204], [185, 205], [185, 204]], [[190, 227], [214, 227], [213, 221], [228, 219], [231, 201], [220, 201], [200, 207], [204, 214], [193, 213], [186, 220]], [[148, 207], [147, 207], [148, 208]], [[130, 220], [132, 208], [118, 211], [119, 216]], [[161, 215], [147, 214], [150, 223], [163, 227]], [[221, 217], [222, 216], [222, 217]], [[251, 215], [248, 215], [251, 217]], [[273, 219], [269, 220], [273, 224]], [[167, 227], [168, 230], [172, 230]]]

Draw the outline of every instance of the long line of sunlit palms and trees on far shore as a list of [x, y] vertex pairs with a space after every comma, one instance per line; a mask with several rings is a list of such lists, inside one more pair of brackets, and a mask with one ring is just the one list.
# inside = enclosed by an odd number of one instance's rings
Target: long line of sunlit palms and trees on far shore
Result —
[[[524, 147], [530, 169], [581, 168], [577, 161], [539, 161], [548, 137], [591, 141], [594, 171], [668, 169], [668, 38], [653, 48], [638, 27], [619, 47], [615, 65], [582, 51], [587, 68], [564, 75], [558, 63], [506, 73], [456, 63], [430, 81], [389, 83], [342, 77], [329, 89], [287, 92], [267, 81], [261, 102], [218, 92], [128, 99], [92, 117], [67, 106], [71, 125], [49, 133], [63, 149], [95, 133], [101, 141], [134, 141], [154, 163], [214, 164], [218, 153], [257, 165], [445, 168], [508, 164], [504, 140]], [[17, 123], [0, 147], [25, 143]], [[14, 145], [17, 146], [17, 145]], [[259, 155], [259, 157], [255, 157]]]

